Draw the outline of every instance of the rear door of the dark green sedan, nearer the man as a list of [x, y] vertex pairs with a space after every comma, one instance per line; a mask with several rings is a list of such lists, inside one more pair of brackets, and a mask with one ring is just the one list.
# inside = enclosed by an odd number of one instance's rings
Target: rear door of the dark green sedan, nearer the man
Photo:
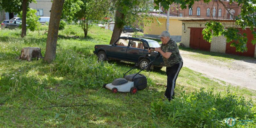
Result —
[[137, 62], [145, 52], [144, 44], [140, 40], [131, 39], [126, 52], [126, 60]]

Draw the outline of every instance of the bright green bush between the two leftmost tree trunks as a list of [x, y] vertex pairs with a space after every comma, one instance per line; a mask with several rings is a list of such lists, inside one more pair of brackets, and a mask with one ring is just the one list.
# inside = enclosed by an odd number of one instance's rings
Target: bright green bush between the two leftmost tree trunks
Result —
[[[22, 19], [22, 11], [18, 14], [18, 17]], [[39, 16], [36, 16], [36, 10], [32, 8], [28, 8], [27, 10], [27, 16], [26, 16], [26, 22], [27, 22], [27, 28], [30, 31], [35, 31], [38, 26], [41, 24], [38, 21]], [[21, 27], [21, 26], [20, 26]]]

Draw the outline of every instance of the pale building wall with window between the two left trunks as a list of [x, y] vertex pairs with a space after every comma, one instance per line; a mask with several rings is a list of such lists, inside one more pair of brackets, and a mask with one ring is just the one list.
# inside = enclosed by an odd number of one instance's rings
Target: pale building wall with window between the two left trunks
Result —
[[29, 7], [33, 9], [43, 9], [43, 16], [50, 17], [52, 2], [51, 0], [37, 0], [36, 4], [34, 2], [30, 3]]

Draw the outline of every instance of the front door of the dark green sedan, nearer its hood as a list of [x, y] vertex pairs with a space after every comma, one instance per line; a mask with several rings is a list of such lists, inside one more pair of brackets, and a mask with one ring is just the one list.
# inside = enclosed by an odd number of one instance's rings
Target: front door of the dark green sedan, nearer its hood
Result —
[[127, 38], [119, 38], [110, 49], [110, 58], [117, 60], [125, 60], [126, 58], [126, 50], [128, 47], [130, 39]]

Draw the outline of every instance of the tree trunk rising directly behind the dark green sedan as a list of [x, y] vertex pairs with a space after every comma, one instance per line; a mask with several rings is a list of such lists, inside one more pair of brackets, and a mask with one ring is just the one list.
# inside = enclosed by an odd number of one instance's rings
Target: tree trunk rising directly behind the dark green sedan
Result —
[[109, 44], [115, 43], [115, 41], [121, 36], [124, 24], [121, 20], [124, 20], [124, 14], [116, 10], [115, 26], [112, 33], [112, 37]]

